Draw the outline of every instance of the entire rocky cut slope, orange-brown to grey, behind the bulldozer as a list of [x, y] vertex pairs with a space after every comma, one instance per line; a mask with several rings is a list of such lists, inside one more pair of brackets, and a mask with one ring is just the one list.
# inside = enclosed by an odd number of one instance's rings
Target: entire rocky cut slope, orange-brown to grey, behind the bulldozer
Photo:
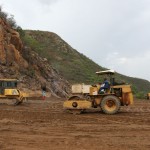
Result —
[[0, 18], [0, 78], [17, 78], [20, 88], [40, 90], [46, 83], [48, 91], [59, 97], [70, 92], [69, 83], [55, 69], [22, 44], [19, 33]]

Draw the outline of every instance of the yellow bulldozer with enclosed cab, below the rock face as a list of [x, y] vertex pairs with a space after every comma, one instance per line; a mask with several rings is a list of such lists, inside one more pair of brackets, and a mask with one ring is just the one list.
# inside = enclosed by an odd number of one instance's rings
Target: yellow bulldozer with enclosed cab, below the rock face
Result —
[[0, 79], [0, 103], [19, 105], [27, 96], [17, 88], [17, 79]]

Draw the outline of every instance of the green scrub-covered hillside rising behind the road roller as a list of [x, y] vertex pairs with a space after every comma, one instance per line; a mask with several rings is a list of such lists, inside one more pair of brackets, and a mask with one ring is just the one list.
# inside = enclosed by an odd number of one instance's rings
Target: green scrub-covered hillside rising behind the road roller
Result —
[[[96, 71], [105, 70], [69, 46], [58, 35], [44, 31], [25, 31], [23, 36], [25, 45], [36, 51], [41, 57], [46, 58], [64, 78], [71, 84], [85, 83], [94, 84], [101, 82], [95, 74]], [[132, 85], [134, 94], [142, 98], [150, 92], [150, 82], [143, 79], [132, 78], [121, 74], [116, 74], [117, 81], [124, 81]]]

